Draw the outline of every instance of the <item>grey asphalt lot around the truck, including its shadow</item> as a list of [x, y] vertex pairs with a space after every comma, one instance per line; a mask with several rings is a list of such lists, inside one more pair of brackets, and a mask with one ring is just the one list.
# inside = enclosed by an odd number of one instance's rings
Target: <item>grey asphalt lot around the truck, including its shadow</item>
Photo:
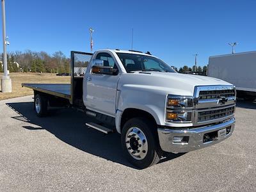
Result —
[[256, 103], [237, 103], [227, 140], [138, 170], [120, 136], [83, 113], [36, 117], [32, 97], [0, 101], [0, 191], [256, 191]]

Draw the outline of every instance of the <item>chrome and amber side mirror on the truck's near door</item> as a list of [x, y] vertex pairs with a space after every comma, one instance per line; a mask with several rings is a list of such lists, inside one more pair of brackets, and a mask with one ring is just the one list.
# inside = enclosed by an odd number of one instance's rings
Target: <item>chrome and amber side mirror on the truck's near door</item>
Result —
[[115, 75], [117, 75], [117, 69], [110, 67], [110, 66], [104, 66], [103, 60], [93, 60], [92, 61], [92, 73], [115, 76]]

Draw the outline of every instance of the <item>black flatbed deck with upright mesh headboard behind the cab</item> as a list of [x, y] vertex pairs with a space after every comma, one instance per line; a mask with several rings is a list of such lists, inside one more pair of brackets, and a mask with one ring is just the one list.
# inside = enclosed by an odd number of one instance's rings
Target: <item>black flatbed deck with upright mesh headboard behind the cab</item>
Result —
[[22, 86], [31, 88], [35, 92], [45, 93], [49, 97], [68, 100], [71, 105], [77, 108], [84, 108], [83, 77], [92, 55], [89, 52], [71, 51], [70, 84], [22, 83]]

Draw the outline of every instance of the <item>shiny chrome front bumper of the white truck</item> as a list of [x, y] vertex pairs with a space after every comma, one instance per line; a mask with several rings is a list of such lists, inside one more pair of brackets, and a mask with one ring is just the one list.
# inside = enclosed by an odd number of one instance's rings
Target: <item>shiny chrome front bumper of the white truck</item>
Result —
[[[216, 125], [208, 125], [204, 127], [197, 127], [194, 129], [167, 129], [167, 128], [158, 128], [159, 143], [162, 150], [166, 152], [181, 153], [189, 152], [191, 150], [196, 150], [199, 148], [209, 147], [216, 143], [227, 139], [231, 136], [235, 128], [235, 118]], [[204, 143], [204, 134], [210, 132], [218, 132], [221, 129], [230, 127], [230, 132], [221, 138], [216, 138], [216, 140], [207, 141]], [[188, 138], [187, 143], [173, 143], [173, 137], [186, 137]]]

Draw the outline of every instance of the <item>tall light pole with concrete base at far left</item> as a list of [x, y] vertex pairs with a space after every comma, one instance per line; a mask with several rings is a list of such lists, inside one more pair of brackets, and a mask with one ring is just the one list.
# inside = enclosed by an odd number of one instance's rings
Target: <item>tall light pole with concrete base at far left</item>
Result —
[[4, 75], [1, 79], [1, 88], [3, 93], [12, 92], [12, 79], [7, 72], [7, 54], [6, 45], [9, 45], [8, 37], [5, 35], [5, 3], [2, 1], [2, 24], [3, 24], [3, 64], [4, 64]]

